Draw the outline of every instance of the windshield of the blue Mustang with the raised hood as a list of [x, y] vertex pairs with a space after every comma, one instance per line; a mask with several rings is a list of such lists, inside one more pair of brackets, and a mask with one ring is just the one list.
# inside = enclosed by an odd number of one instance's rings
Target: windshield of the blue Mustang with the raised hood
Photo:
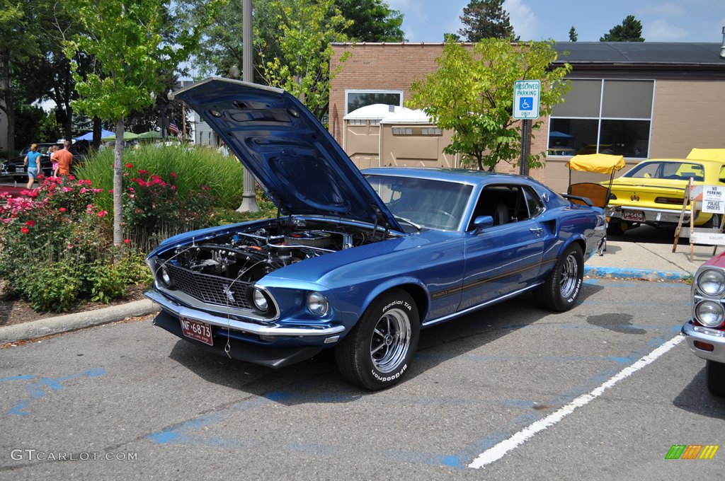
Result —
[[392, 214], [423, 227], [457, 230], [471, 198], [471, 185], [443, 180], [367, 175]]

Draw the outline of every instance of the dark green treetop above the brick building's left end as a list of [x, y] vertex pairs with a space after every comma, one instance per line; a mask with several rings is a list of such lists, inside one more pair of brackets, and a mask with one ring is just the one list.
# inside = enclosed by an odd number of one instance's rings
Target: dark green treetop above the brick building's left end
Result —
[[403, 16], [384, 0], [335, 0], [340, 13], [353, 24], [347, 36], [356, 42], [402, 42]]

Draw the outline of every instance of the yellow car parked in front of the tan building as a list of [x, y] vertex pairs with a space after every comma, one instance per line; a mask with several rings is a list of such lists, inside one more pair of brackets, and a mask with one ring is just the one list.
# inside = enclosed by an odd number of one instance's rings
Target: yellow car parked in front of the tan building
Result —
[[[690, 178], [695, 185], [725, 186], [725, 149], [692, 149], [687, 159], [647, 159], [616, 178], [607, 206], [607, 233], [621, 235], [642, 224], [676, 225]], [[687, 204], [688, 225], [689, 216]], [[696, 226], [719, 227], [720, 221], [720, 214], [695, 211]]]

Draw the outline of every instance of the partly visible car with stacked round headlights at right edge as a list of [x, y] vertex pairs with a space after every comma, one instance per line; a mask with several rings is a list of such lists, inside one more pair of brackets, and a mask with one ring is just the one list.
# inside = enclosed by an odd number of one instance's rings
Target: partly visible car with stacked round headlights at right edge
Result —
[[695, 356], [705, 359], [708, 390], [725, 396], [725, 252], [705, 262], [692, 283], [692, 319], [682, 335]]

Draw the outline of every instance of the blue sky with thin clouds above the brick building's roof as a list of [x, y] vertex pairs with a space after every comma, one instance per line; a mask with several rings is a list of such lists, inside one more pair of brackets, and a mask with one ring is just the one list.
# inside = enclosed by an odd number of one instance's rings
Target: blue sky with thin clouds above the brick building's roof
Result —
[[[410, 42], [441, 42], [457, 33], [468, 0], [387, 0], [403, 17]], [[634, 15], [651, 42], [721, 42], [725, 0], [505, 0], [504, 9], [521, 40], [568, 41], [573, 25], [579, 41], [599, 41]]]

